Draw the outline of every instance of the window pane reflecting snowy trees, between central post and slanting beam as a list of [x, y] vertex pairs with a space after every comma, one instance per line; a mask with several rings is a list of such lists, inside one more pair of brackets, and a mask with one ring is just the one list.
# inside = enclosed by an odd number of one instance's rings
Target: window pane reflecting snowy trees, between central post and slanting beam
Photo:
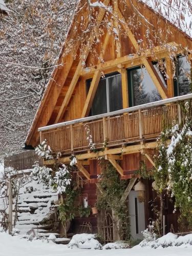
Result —
[[141, 105], [161, 99], [161, 96], [145, 68], [130, 71], [132, 105]]

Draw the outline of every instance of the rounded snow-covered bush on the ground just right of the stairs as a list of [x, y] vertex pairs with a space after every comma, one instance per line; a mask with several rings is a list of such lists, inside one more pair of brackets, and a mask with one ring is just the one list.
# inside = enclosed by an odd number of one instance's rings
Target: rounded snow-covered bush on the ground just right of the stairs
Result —
[[95, 234], [75, 234], [68, 244], [68, 247], [80, 249], [102, 249], [102, 245], [96, 240]]

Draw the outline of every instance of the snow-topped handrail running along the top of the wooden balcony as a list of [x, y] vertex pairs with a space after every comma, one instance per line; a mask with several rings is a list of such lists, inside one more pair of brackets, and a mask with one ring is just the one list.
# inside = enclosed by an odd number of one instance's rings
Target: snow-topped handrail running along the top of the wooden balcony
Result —
[[100, 115], [96, 115], [96, 116], [83, 117], [83, 118], [74, 119], [71, 121], [55, 123], [55, 124], [51, 124], [48, 126], [39, 127], [38, 132], [49, 131], [49, 130], [57, 129], [59, 127], [67, 126], [70, 124], [94, 121], [94, 120], [101, 119], [103, 117], [121, 115], [124, 113], [129, 113], [129, 112], [140, 110], [140, 109], [148, 109], [148, 108], [152, 108], [153, 106], [160, 106], [160, 105], [164, 105], [167, 103], [182, 101], [182, 100], [191, 99], [191, 98], [192, 98], [192, 93], [182, 95], [182, 96], [173, 97], [173, 98], [163, 99], [163, 100], [159, 100], [159, 101], [154, 101], [154, 102], [150, 102], [150, 103], [146, 103], [146, 104], [142, 104], [142, 105], [138, 105], [138, 106], [131, 106], [130, 108], [117, 110], [117, 111], [113, 111], [113, 112], [109, 112], [109, 113], [104, 113], [104, 114], [100, 114]]

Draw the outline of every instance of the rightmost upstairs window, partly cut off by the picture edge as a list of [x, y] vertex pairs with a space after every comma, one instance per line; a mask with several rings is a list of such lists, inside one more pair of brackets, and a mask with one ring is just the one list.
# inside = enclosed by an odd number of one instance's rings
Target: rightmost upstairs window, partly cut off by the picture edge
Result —
[[186, 56], [179, 56], [176, 61], [174, 78], [175, 96], [191, 93], [190, 63]]

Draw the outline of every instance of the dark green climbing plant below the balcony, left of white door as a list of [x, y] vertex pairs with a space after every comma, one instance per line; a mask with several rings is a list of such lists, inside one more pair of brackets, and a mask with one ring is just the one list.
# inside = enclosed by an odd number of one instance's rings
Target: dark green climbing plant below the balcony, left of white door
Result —
[[102, 193], [98, 195], [96, 207], [98, 210], [111, 208], [122, 222], [123, 236], [130, 238], [129, 213], [125, 201], [121, 197], [127, 186], [127, 181], [121, 180], [113, 165], [104, 160], [100, 161], [102, 174], [99, 176], [99, 185]]

